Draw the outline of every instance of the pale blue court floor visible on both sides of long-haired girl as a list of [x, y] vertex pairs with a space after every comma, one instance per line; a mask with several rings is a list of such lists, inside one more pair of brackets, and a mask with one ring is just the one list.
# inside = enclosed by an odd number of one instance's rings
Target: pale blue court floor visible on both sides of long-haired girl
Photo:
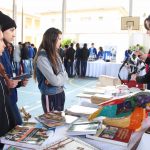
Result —
[[[71, 78], [65, 84], [66, 103], [65, 108], [79, 103], [76, 97], [83, 88], [92, 88], [95, 86], [97, 78]], [[41, 105], [41, 94], [37, 83], [33, 79], [29, 80], [26, 87], [18, 89], [18, 106], [24, 106], [27, 112], [33, 117], [43, 113]]]

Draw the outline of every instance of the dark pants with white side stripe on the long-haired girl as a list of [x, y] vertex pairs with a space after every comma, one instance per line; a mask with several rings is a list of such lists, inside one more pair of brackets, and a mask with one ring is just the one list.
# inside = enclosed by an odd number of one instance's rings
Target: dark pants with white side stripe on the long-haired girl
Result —
[[44, 113], [51, 111], [63, 111], [65, 104], [64, 91], [55, 95], [42, 95], [42, 106]]

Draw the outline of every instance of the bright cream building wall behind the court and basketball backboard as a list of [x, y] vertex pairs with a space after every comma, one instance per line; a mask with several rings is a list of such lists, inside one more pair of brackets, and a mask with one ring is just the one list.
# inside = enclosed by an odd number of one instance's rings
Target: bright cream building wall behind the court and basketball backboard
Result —
[[[11, 14], [11, 11], [6, 11]], [[105, 9], [87, 9], [74, 10], [66, 12], [65, 33], [63, 38], [71, 38], [74, 42], [81, 44], [92, 42], [96, 48], [115, 47], [117, 51], [117, 61], [123, 60], [124, 51], [132, 44], [139, 43], [143, 29], [143, 20], [141, 21], [139, 31], [122, 31], [121, 17], [128, 13], [121, 7]], [[17, 33], [16, 43], [22, 40], [22, 14], [17, 13]], [[50, 27], [56, 27], [62, 30], [61, 12], [42, 13], [39, 16], [29, 14], [23, 15], [23, 42], [29, 41], [39, 46], [43, 33]], [[135, 33], [136, 36], [135, 36]], [[134, 35], [134, 36], [133, 36]], [[138, 36], [137, 36], [138, 35]], [[148, 48], [148, 37], [140, 43]]]

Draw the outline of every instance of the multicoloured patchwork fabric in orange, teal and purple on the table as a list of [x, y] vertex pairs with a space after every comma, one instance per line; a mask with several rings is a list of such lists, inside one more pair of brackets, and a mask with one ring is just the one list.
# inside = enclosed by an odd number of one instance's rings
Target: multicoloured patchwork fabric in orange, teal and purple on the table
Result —
[[89, 120], [103, 116], [106, 117], [104, 119], [106, 124], [136, 130], [140, 128], [146, 116], [145, 112], [149, 103], [149, 92], [139, 92], [125, 98], [110, 100], [100, 104], [99, 110], [91, 114]]

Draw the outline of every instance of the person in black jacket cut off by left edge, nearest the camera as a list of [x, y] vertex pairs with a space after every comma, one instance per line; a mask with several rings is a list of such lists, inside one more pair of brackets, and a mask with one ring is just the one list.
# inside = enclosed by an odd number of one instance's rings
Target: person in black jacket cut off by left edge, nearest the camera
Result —
[[[5, 43], [3, 41], [3, 33], [0, 26], [0, 56], [4, 51]], [[0, 137], [4, 136], [8, 131], [16, 126], [15, 116], [9, 100], [9, 89], [6, 85], [8, 82], [5, 69], [0, 64]], [[0, 150], [3, 149], [3, 144], [0, 143]]]

